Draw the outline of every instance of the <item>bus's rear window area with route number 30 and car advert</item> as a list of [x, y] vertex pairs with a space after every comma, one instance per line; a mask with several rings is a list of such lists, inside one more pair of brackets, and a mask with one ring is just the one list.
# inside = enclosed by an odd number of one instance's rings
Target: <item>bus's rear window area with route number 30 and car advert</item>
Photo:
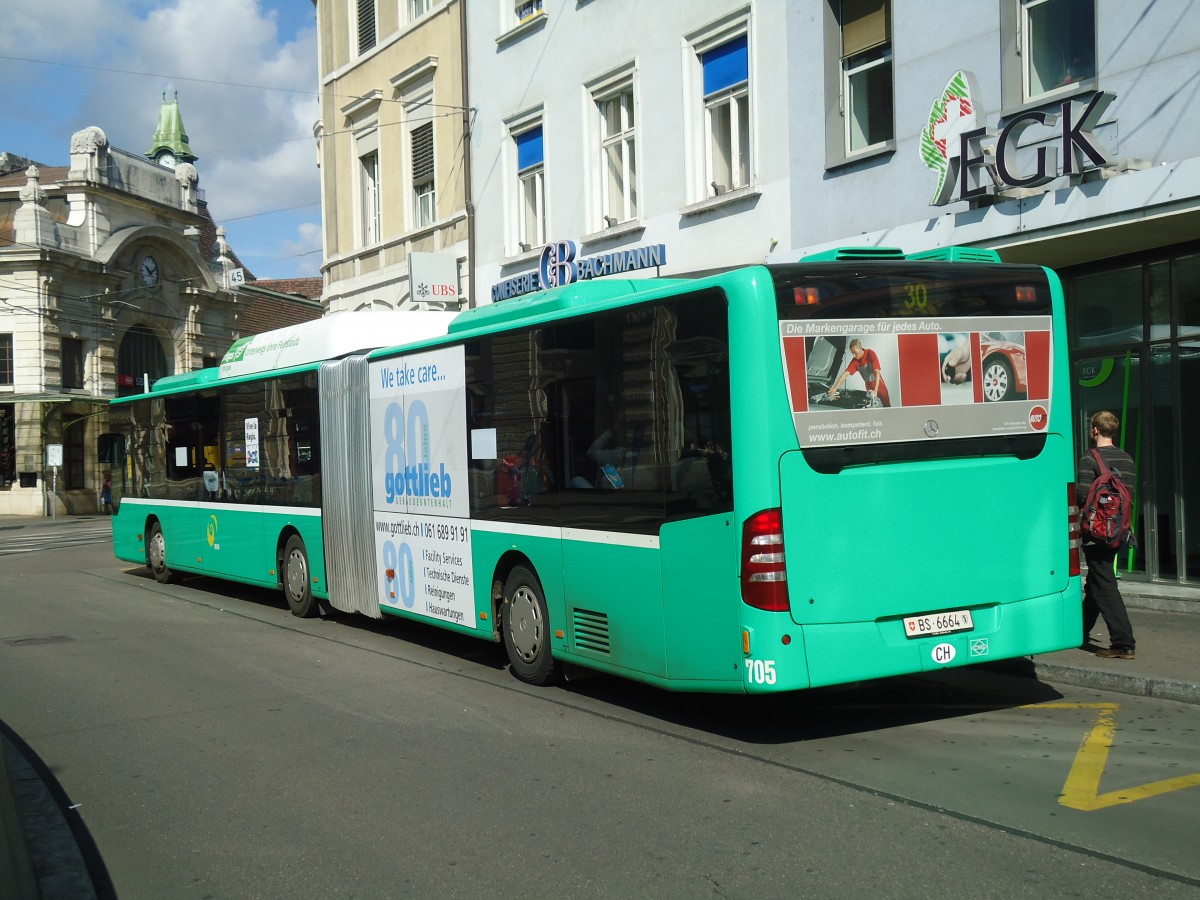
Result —
[[[1040, 268], [888, 262], [770, 271], [805, 451], [930, 458], [934, 444], [958, 448], [954, 455], [1004, 452], [1012, 442], [961, 442], [1044, 436], [1055, 289]], [[901, 451], [904, 443], [920, 449]], [[868, 450], [882, 446], [890, 449]], [[1028, 451], [1021, 444], [1018, 455]]]

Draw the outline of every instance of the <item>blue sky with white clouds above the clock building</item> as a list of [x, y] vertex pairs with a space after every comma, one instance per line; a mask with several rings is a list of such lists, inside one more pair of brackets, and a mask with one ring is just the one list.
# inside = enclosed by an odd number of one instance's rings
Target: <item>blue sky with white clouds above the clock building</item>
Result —
[[258, 278], [320, 274], [312, 0], [0, 0], [0, 152], [150, 149], [179, 97], [209, 211]]

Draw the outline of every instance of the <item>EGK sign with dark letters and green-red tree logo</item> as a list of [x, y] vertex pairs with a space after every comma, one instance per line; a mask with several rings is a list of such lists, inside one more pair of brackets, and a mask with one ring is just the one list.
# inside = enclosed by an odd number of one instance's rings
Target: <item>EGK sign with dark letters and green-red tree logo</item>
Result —
[[[985, 125], [974, 76], [959, 71], [946, 85], [920, 132], [920, 157], [938, 174], [931, 205], [970, 200], [997, 188], [1038, 187], [1062, 175], [1079, 175], [1085, 169], [1112, 162], [1092, 130], [1116, 100], [1096, 91], [1062, 101], [1060, 112], [1031, 109], [1010, 118], [998, 132]], [[1026, 130], [1048, 130], [1042, 144], [1018, 164], [1018, 149]]]

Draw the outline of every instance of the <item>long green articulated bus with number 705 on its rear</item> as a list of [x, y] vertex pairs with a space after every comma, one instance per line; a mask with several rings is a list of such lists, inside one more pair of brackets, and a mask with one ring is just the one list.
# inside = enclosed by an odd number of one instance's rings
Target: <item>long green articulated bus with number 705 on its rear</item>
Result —
[[1062, 289], [846, 248], [341, 313], [113, 402], [115, 553], [671, 690], [1078, 646]]

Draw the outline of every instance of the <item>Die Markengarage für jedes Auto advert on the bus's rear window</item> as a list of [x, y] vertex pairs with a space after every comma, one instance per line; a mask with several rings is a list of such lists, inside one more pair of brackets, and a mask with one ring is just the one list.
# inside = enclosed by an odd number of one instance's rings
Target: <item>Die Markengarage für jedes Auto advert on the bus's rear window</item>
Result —
[[1045, 431], [1050, 328], [1049, 316], [781, 322], [800, 446]]

